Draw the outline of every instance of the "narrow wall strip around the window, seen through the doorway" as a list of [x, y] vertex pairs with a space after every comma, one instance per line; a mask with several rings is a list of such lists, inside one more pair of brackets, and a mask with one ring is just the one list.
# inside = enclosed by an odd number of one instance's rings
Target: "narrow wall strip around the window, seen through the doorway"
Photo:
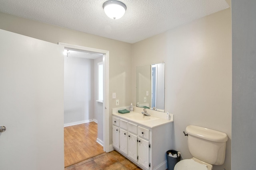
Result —
[[[98, 139], [103, 141], [103, 103], [96, 102], [98, 99], [98, 63], [102, 62], [103, 57], [94, 59], [94, 119], [98, 123]], [[99, 142], [100, 142], [99, 141]]]

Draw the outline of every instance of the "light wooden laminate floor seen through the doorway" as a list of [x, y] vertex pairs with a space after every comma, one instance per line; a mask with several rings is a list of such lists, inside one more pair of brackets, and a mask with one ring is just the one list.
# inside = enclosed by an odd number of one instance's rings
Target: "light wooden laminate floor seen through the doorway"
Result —
[[96, 142], [97, 135], [95, 122], [64, 127], [65, 167], [102, 154], [103, 147]]

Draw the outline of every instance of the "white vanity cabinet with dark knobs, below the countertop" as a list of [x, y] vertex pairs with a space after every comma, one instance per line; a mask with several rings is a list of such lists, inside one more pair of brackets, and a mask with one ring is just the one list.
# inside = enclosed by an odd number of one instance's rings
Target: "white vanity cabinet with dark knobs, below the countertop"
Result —
[[113, 120], [113, 147], [143, 170], [165, 170], [166, 151], [171, 149], [171, 123], [146, 127], [117, 116]]

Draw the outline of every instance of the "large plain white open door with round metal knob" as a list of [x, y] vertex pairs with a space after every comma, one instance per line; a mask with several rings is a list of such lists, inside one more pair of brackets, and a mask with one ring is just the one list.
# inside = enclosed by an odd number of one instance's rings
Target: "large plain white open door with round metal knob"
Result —
[[64, 47], [0, 29], [0, 170], [63, 170]]

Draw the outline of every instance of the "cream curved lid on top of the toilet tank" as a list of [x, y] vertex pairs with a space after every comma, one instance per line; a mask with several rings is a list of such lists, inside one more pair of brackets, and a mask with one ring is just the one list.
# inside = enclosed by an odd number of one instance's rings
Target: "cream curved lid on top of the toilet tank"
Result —
[[186, 127], [186, 132], [188, 133], [188, 135], [192, 135], [208, 141], [213, 141], [213, 142], [228, 141], [228, 136], [226, 133], [208, 129], [205, 127], [189, 125]]

